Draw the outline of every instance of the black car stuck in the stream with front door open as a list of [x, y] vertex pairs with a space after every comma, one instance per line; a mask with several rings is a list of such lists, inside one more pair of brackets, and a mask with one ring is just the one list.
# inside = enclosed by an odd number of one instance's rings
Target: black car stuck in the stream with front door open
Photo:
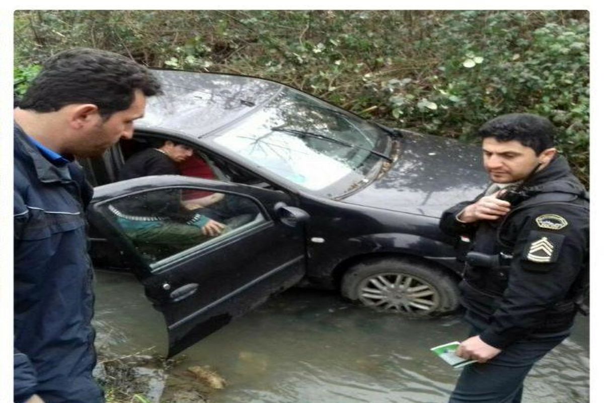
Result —
[[[133, 139], [80, 163], [95, 185], [94, 265], [140, 279], [165, 316], [170, 356], [296, 284], [414, 317], [458, 307], [461, 265], [438, 222], [486, 187], [477, 147], [370, 123], [269, 80], [154, 74], [165, 94], [148, 100]], [[158, 140], [192, 147], [201, 177], [117, 181]], [[175, 193], [216, 195], [201, 211], [222, 214], [228, 231], [165, 245], [120, 224], [124, 205]]]

